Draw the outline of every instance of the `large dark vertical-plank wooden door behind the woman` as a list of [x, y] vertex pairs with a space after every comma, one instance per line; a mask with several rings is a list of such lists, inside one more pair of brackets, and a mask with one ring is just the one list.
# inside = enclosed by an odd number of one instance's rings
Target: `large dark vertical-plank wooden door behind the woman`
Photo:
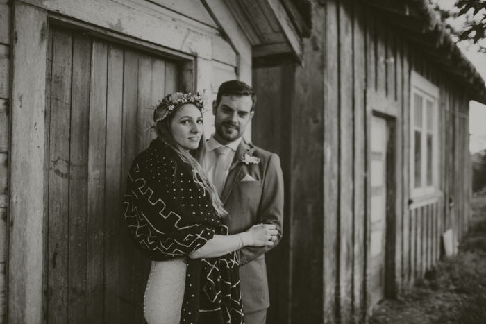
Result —
[[153, 137], [146, 108], [176, 91], [178, 67], [56, 26], [47, 54], [44, 321], [143, 323], [149, 262], [121, 199]]

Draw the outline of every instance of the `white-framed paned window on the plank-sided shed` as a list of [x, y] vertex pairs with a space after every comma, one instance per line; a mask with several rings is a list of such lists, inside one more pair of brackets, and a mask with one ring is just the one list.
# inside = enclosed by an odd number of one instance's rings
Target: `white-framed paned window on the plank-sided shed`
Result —
[[410, 94], [410, 196], [416, 198], [438, 190], [439, 88], [412, 71]]

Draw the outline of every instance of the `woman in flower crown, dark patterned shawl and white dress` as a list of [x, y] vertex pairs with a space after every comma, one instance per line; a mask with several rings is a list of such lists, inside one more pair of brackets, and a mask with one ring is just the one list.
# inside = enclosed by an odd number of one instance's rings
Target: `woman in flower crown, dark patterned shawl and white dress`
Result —
[[215, 187], [201, 167], [203, 98], [176, 92], [154, 110], [157, 138], [137, 155], [126, 182], [125, 220], [152, 260], [144, 296], [149, 324], [243, 323], [242, 246], [273, 245], [275, 225], [228, 235]]

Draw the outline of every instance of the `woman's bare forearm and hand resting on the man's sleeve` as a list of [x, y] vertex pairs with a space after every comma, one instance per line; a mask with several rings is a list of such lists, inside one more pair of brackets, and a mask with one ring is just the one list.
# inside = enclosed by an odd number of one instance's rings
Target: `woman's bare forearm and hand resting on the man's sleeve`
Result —
[[259, 224], [236, 235], [215, 235], [201, 248], [189, 253], [189, 257], [191, 259], [220, 257], [234, 250], [239, 250], [243, 246], [271, 246], [274, 245], [274, 242], [269, 241], [269, 239], [271, 235], [277, 234], [275, 225]]

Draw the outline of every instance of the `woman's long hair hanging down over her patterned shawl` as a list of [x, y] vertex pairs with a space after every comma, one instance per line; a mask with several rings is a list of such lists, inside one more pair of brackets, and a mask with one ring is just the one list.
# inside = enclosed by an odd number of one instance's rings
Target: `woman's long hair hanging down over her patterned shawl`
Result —
[[[192, 104], [195, 105], [199, 110], [202, 111], [203, 106], [201, 103], [184, 103], [182, 105], [178, 105], [174, 109], [174, 112], [181, 110], [184, 105]], [[207, 190], [210, 194], [210, 201], [212, 203], [212, 207], [215, 208], [217, 215], [220, 218], [226, 218], [229, 216], [228, 212], [223, 207], [223, 203], [219, 199], [218, 193], [212, 183], [208, 180], [208, 176], [206, 174], [206, 170], [204, 169], [204, 155], [206, 153], [206, 139], [204, 138], [204, 133], [201, 135], [201, 140], [199, 141], [199, 146], [195, 150], [191, 150], [189, 152], [185, 151], [185, 149], [181, 148], [174, 139], [171, 131], [171, 121], [174, 118], [174, 113], [171, 113], [156, 123], [156, 134], [157, 136], [162, 139], [165, 144], [167, 144], [170, 148], [176, 151], [177, 155], [183, 160], [183, 162], [190, 165], [190, 167], [196, 171], [201, 177], [201, 182], [199, 185], [203, 187], [203, 190]]]

